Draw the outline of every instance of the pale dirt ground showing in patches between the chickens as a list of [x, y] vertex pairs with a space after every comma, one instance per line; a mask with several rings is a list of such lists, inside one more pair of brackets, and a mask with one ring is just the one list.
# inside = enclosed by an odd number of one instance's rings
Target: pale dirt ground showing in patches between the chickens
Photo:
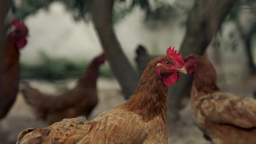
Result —
[[[71, 89], [76, 83], [76, 80], [55, 82], [43, 80], [27, 81], [32, 87], [48, 94], [58, 94]], [[99, 102], [92, 111], [91, 116], [88, 117], [88, 120], [125, 102], [121, 88], [115, 79], [100, 78], [98, 79], [97, 85]], [[233, 92], [238, 96], [252, 97], [254, 90], [256, 90], [256, 77], [249, 77], [239, 83], [220, 83], [219, 85], [223, 90]], [[180, 115], [180, 123], [170, 128], [171, 130], [168, 132], [169, 144], [210, 144], [202, 137], [202, 132], [194, 125], [189, 104], [180, 111]], [[31, 127], [40, 128], [46, 126], [42, 120], [36, 119], [32, 109], [25, 103], [23, 96], [19, 93], [9, 114], [0, 121], [0, 144], [15, 144], [17, 136], [22, 130]]]

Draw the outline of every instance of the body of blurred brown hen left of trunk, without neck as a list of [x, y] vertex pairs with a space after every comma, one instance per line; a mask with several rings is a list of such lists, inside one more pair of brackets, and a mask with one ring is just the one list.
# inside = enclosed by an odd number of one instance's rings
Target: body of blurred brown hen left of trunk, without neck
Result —
[[89, 116], [97, 104], [97, 92], [88, 88], [76, 87], [58, 96], [45, 95], [28, 84], [22, 85], [25, 101], [33, 107], [36, 116], [48, 124], [64, 118]]

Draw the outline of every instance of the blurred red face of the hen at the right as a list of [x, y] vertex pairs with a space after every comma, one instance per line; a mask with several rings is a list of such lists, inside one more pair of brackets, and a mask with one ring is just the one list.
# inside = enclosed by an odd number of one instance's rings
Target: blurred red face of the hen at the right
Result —
[[196, 59], [198, 58], [197, 55], [190, 54], [188, 56], [185, 56], [183, 58], [183, 61], [185, 63], [186, 70], [189, 74], [193, 75], [195, 72], [195, 68], [197, 67]]

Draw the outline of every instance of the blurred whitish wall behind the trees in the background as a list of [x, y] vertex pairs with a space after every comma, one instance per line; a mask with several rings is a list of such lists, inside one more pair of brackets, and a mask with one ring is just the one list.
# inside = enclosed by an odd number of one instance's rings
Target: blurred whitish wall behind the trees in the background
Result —
[[[134, 62], [134, 50], [138, 44], [145, 45], [150, 53], [156, 54], [164, 54], [170, 45], [179, 48], [185, 32], [185, 27], [179, 26], [182, 19], [184, 21], [184, 16], [152, 30], [143, 24], [143, 11], [136, 8], [115, 25], [115, 32], [128, 59]], [[89, 60], [102, 51], [93, 24], [75, 22], [61, 3], [53, 3], [48, 12], [40, 10], [29, 16], [25, 23], [30, 37], [27, 46], [21, 51], [22, 62], [40, 62], [40, 51], [53, 58], [67, 57], [74, 60]]]

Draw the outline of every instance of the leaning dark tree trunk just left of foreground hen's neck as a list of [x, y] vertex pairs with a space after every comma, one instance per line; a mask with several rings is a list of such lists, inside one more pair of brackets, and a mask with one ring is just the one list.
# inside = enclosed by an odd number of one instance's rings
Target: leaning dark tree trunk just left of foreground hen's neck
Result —
[[129, 98], [137, 88], [138, 74], [135, 73], [116, 39], [111, 19], [113, 3], [114, 0], [94, 0], [92, 20], [112, 71], [121, 85], [125, 98]]

